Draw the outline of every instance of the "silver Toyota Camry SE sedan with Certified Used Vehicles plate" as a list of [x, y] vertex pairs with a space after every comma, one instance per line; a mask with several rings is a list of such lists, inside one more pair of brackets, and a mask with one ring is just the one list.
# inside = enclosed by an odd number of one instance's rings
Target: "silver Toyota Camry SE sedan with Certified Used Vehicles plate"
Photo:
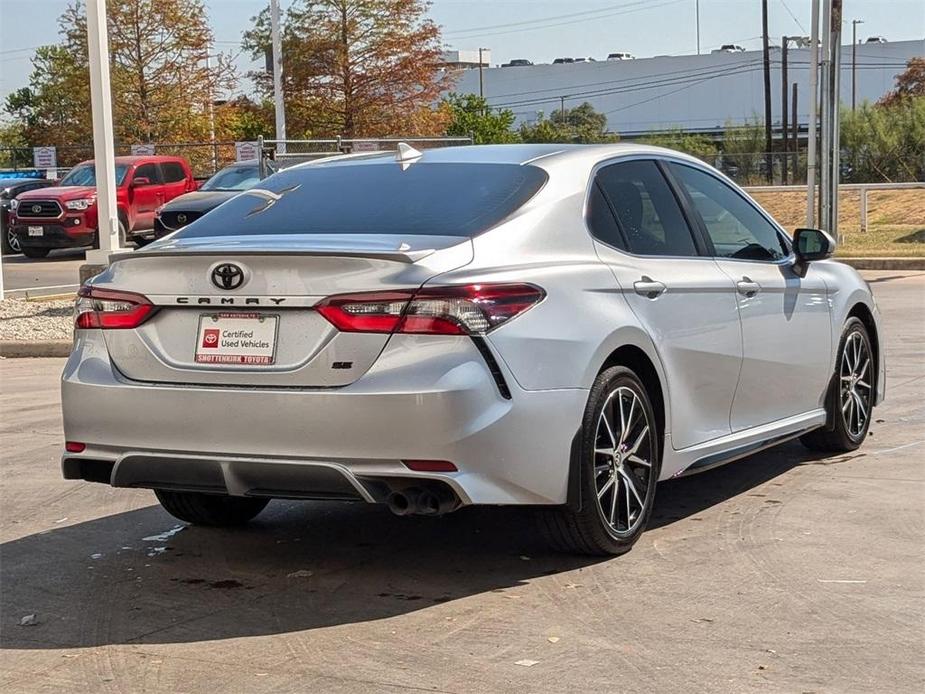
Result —
[[864, 440], [880, 319], [833, 250], [654, 147], [295, 167], [80, 290], [64, 476], [204, 525], [275, 498], [522, 505], [619, 554], [659, 480]]

